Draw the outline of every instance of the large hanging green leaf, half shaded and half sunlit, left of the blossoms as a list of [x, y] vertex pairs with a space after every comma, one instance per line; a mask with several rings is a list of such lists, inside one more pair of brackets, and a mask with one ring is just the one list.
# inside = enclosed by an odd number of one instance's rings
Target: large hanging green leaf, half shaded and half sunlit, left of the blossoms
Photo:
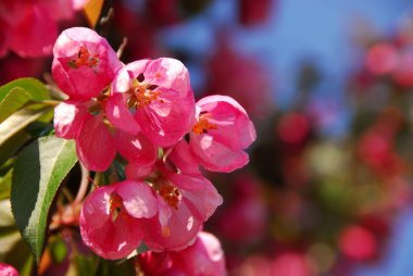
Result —
[[40, 261], [53, 198], [77, 161], [75, 142], [41, 137], [22, 150], [13, 171], [14, 218], [37, 263]]

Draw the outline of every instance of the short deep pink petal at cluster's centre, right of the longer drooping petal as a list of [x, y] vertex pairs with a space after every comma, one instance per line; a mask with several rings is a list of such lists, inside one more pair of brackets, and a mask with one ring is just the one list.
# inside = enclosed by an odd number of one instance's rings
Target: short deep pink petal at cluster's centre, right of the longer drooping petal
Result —
[[153, 146], [142, 134], [129, 135], [115, 131], [116, 149], [127, 161], [145, 166], [152, 165], [158, 158], [158, 147]]

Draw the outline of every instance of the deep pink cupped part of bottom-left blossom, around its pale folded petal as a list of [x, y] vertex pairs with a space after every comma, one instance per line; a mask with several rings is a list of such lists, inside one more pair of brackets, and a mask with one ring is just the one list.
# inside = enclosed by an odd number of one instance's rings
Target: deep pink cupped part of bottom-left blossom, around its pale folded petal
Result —
[[116, 217], [110, 213], [111, 196], [116, 186], [95, 190], [80, 211], [80, 234], [86, 246], [104, 259], [129, 255], [141, 242], [139, 219], [121, 209]]

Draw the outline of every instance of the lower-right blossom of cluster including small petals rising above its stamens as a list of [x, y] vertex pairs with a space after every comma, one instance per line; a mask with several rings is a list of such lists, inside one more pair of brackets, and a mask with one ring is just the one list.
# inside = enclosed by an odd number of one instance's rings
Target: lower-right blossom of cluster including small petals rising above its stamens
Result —
[[[158, 216], [142, 224], [145, 243], [154, 251], [182, 250], [193, 242], [197, 233], [222, 204], [215, 187], [204, 178], [196, 163], [190, 164], [185, 141], [175, 147], [164, 162], [149, 171], [134, 163], [126, 167], [128, 178], [146, 177], [158, 199]], [[183, 158], [182, 158], [183, 156]]]

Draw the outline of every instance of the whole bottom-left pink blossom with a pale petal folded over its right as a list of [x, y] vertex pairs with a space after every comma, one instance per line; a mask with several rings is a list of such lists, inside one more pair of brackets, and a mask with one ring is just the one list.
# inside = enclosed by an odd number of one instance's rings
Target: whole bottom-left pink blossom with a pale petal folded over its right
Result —
[[146, 183], [125, 180], [100, 187], [82, 208], [82, 238], [102, 258], [125, 258], [142, 241], [141, 222], [155, 214], [157, 198]]

